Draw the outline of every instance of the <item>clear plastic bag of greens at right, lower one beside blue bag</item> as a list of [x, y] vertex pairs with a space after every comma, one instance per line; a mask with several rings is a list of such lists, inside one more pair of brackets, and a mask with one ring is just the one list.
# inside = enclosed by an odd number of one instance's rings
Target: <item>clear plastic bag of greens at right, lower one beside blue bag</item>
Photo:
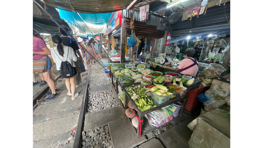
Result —
[[205, 91], [205, 96], [208, 100], [224, 100], [229, 94], [229, 90], [222, 87], [222, 83], [215, 85], [213, 89]]

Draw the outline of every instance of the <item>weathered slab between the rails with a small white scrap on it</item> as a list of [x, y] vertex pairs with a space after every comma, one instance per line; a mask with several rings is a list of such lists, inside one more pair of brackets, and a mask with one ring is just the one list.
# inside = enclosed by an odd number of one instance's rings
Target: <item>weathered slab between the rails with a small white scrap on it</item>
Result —
[[69, 131], [77, 126], [79, 114], [74, 114], [47, 122], [33, 124], [33, 140]]

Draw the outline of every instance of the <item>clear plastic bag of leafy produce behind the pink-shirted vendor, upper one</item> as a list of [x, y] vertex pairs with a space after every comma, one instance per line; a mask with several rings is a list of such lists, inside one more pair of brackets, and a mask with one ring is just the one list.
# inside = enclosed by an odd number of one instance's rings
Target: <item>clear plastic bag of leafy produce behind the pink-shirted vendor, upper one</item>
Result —
[[221, 76], [221, 73], [226, 71], [224, 67], [219, 64], [210, 63], [208, 67], [206, 67], [201, 75], [201, 79], [210, 79], [210, 78], [218, 78]]

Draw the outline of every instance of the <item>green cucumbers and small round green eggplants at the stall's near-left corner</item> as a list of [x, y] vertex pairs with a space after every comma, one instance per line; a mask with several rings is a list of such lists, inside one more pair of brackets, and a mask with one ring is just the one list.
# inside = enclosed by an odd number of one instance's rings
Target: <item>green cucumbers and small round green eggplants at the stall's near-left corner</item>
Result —
[[153, 100], [151, 100], [145, 93], [148, 93], [148, 90], [145, 90], [147, 88], [142, 88], [143, 86], [138, 85], [135, 86], [131, 85], [130, 87], [126, 87], [127, 93], [131, 96], [131, 99], [134, 100], [135, 104], [138, 106], [138, 109], [141, 111], [148, 110], [150, 108], [156, 107], [156, 105], [153, 104]]

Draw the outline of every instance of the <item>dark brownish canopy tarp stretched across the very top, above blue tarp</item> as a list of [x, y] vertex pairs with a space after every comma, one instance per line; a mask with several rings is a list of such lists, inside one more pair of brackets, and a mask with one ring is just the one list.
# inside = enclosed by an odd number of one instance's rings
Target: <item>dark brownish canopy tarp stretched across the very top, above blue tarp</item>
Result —
[[133, 0], [47, 0], [49, 6], [78, 13], [110, 13], [123, 10]]

